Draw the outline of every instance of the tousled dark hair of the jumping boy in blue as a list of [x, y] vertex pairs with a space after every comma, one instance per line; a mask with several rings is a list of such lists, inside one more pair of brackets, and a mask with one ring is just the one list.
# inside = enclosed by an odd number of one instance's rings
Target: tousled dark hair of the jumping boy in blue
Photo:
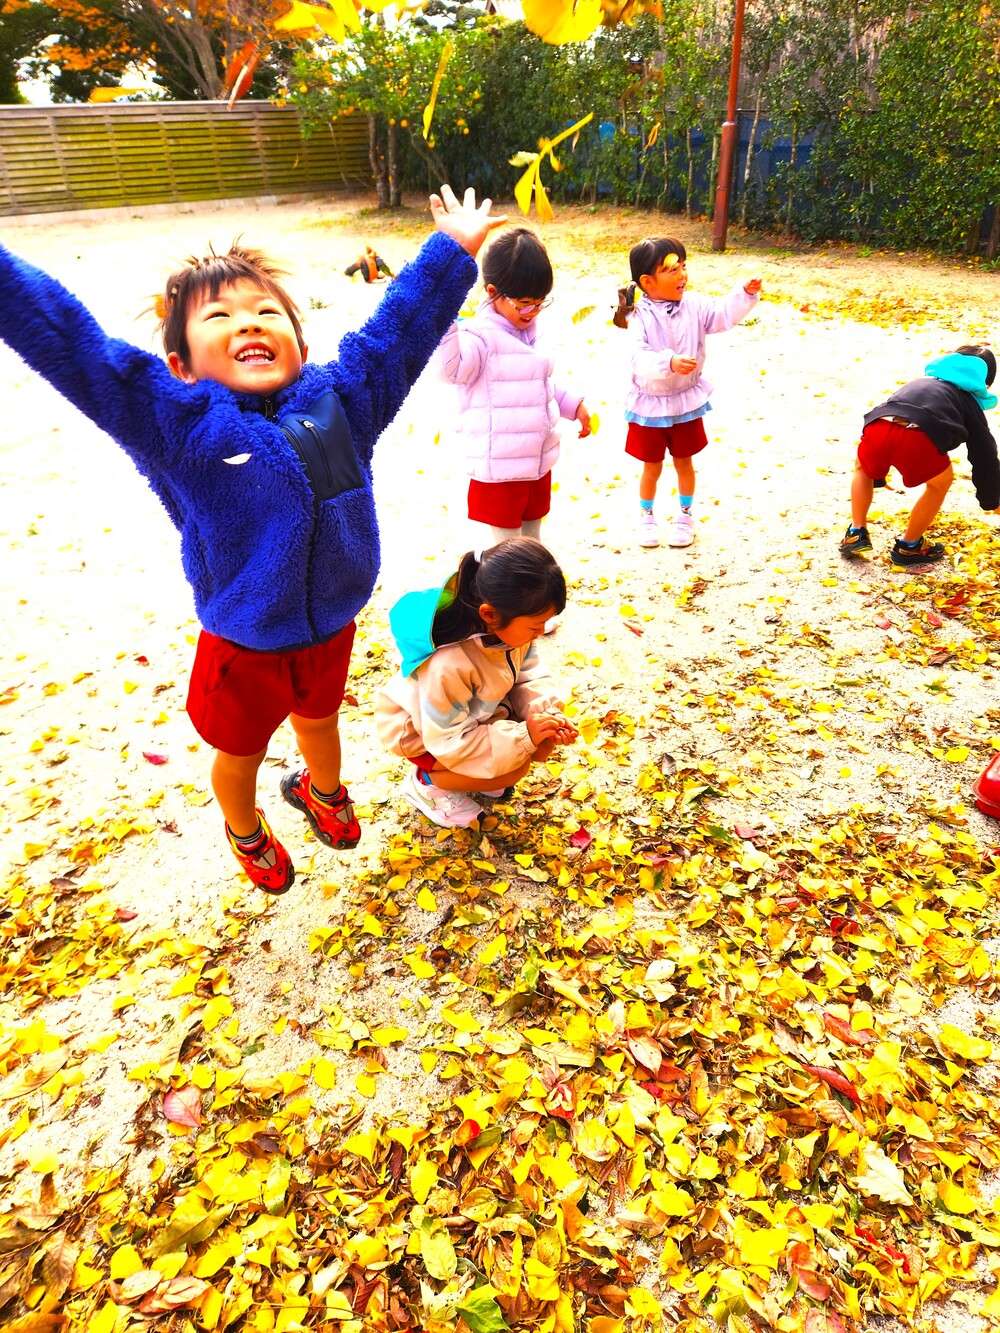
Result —
[[279, 303], [288, 319], [292, 321], [299, 351], [305, 347], [303, 327], [299, 321], [299, 309], [292, 297], [285, 292], [279, 277], [284, 277], [285, 271], [279, 268], [261, 251], [248, 249], [240, 245], [239, 239], [232, 243], [225, 255], [216, 255], [209, 251], [204, 259], [193, 255], [185, 261], [184, 268], [171, 273], [167, 279], [167, 288], [163, 299], [157, 303], [160, 316], [160, 335], [165, 352], [176, 352], [187, 365], [191, 356], [188, 345], [188, 319], [191, 312], [203, 301], [215, 301], [224, 287], [235, 283], [255, 283], [261, 292]]

